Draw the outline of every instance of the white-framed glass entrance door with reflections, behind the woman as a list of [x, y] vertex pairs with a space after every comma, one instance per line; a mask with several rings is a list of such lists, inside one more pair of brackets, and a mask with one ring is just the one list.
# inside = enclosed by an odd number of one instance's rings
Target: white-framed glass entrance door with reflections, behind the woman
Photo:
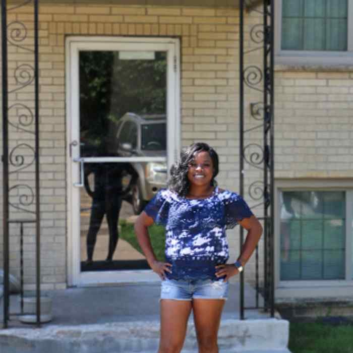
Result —
[[[69, 282], [156, 279], [134, 221], [166, 186], [178, 150], [178, 43], [71, 38], [68, 45]], [[151, 238], [162, 257], [163, 229], [152, 230]]]

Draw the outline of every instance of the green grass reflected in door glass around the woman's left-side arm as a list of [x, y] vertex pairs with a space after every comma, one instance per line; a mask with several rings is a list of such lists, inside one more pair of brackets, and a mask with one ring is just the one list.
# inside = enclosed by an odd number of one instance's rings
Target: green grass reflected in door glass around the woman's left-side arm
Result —
[[[134, 231], [134, 224], [128, 223], [125, 220], [119, 222], [121, 226], [121, 231], [119, 236], [130, 243], [130, 245], [135, 248], [138, 252], [143, 254], [139, 243], [136, 238]], [[157, 257], [157, 260], [164, 261], [164, 248], [165, 248], [165, 229], [163, 226], [153, 224], [148, 228], [151, 238], [151, 244], [153, 251]]]

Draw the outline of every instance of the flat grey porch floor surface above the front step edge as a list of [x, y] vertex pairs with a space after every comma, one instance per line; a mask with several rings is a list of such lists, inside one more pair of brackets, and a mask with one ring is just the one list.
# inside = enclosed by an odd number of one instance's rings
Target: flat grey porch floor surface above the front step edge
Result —
[[[34, 295], [34, 293], [33, 293]], [[45, 325], [87, 325], [121, 321], [159, 319], [160, 283], [124, 283], [104, 286], [74, 287], [65, 290], [42, 291], [42, 296], [52, 299], [52, 321]], [[255, 307], [256, 292], [245, 286], [245, 306]], [[10, 312], [20, 312], [19, 295], [11, 295]], [[3, 303], [2, 303], [3, 304]], [[259, 305], [263, 305], [260, 296]], [[0, 317], [3, 319], [3, 310]], [[229, 298], [223, 310], [223, 319], [240, 319], [239, 283], [231, 283]], [[246, 319], [266, 319], [270, 314], [263, 310], [245, 311]], [[279, 318], [279, 315], [277, 314]], [[192, 319], [192, 318], [191, 318]], [[9, 326], [23, 326], [12, 316]], [[24, 325], [28, 327], [28, 325]]]

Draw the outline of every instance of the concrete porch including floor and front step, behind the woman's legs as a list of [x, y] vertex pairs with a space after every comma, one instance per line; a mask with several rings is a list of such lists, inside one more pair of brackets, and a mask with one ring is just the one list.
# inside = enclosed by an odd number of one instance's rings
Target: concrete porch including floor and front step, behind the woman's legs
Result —
[[[37, 329], [12, 317], [10, 328], [0, 329], [0, 352], [156, 352], [159, 291], [159, 283], [136, 283], [46, 292], [53, 302], [52, 321]], [[247, 285], [245, 294], [246, 306], [254, 306], [253, 288]], [[19, 311], [17, 297], [11, 296], [11, 312]], [[239, 320], [239, 284], [233, 283], [219, 330], [220, 353], [289, 353], [287, 321], [255, 309], [245, 316]], [[196, 352], [191, 316], [183, 353]]]

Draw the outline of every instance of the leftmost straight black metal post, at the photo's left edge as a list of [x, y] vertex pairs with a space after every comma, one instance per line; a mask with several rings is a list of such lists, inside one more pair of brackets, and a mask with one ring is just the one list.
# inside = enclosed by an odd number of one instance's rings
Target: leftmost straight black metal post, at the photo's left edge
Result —
[[3, 61], [3, 229], [4, 229], [4, 328], [9, 319], [9, 131], [8, 131], [8, 44], [7, 4], [2, 0], [2, 61]]

